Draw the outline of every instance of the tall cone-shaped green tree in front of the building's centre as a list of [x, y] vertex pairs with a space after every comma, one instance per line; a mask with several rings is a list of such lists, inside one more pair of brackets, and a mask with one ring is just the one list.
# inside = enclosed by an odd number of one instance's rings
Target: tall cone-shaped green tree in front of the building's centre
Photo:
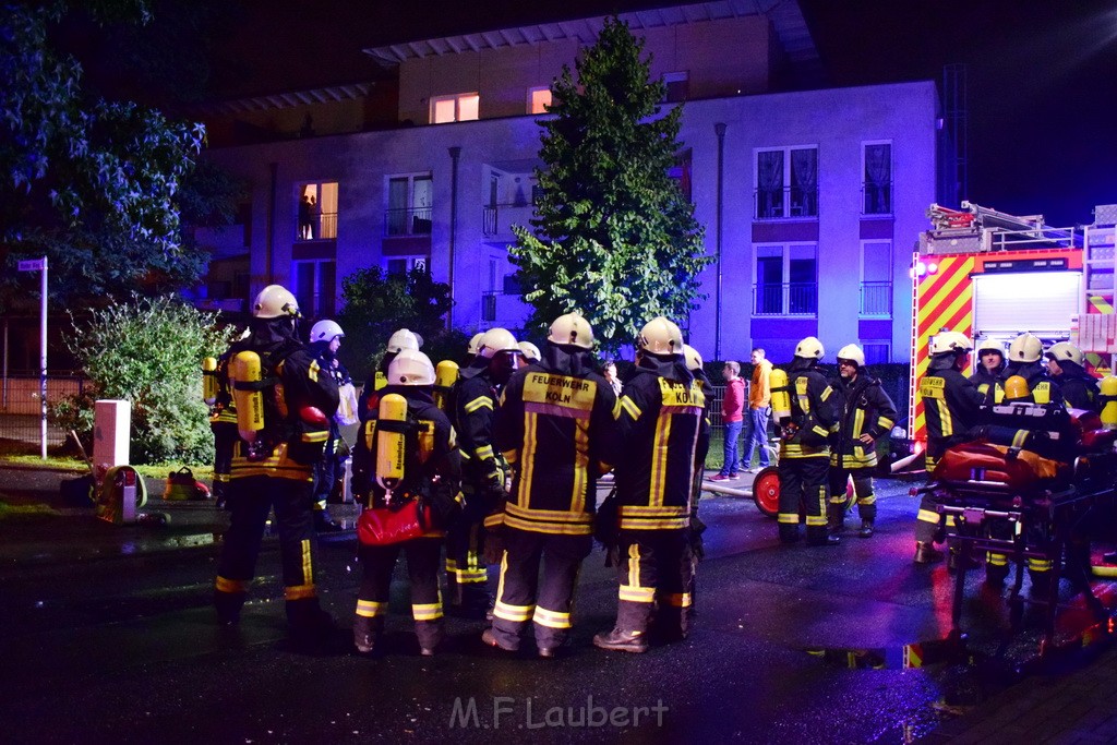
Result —
[[553, 86], [555, 116], [541, 122], [536, 170], [543, 188], [533, 230], [514, 228], [510, 249], [529, 288], [529, 326], [580, 311], [602, 347], [615, 351], [657, 315], [685, 319], [696, 279], [713, 259], [703, 230], [668, 170], [681, 109], [658, 116], [662, 83], [649, 79], [643, 41], [609, 19], [598, 41]]

